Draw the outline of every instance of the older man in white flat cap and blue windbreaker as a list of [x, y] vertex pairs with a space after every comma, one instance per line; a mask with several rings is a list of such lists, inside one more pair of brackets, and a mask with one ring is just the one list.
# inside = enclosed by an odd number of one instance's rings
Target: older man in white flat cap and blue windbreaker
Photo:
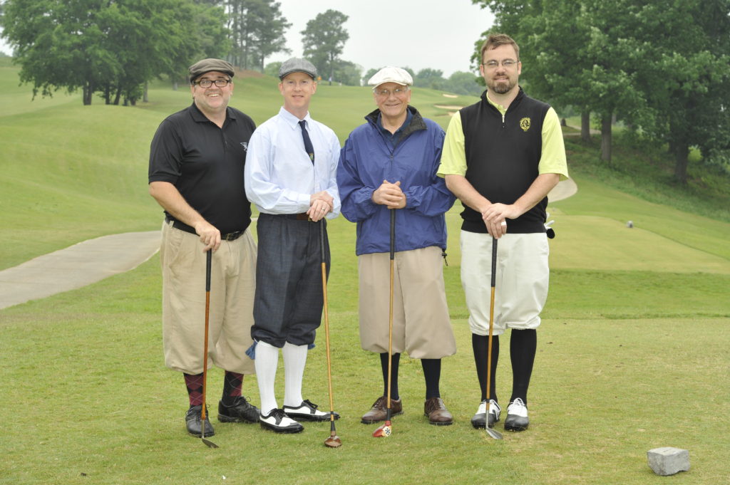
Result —
[[407, 71], [384, 67], [370, 78], [377, 109], [345, 141], [337, 168], [342, 214], [357, 222], [360, 339], [380, 354], [383, 395], [362, 416], [385, 420], [388, 407], [389, 260], [395, 212], [391, 412], [403, 409], [398, 390], [401, 352], [420, 359], [426, 378], [424, 414], [429, 423], [452, 424], [439, 391], [441, 359], [456, 352], [446, 306], [442, 255], [444, 213], [455, 198], [436, 175], [444, 131], [409, 106], [413, 80]]

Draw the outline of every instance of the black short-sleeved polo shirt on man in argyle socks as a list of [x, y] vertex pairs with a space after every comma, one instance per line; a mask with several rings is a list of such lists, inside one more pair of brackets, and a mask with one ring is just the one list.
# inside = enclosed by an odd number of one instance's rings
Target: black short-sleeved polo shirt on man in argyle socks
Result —
[[193, 103], [157, 128], [150, 147], [149, 182], [174, 185], [220, 233], [245, 230], [251, 223], [251, 204], [243, 166], [254, 129], [250, 117], [230, 106], [223, 128], [218, 128]]

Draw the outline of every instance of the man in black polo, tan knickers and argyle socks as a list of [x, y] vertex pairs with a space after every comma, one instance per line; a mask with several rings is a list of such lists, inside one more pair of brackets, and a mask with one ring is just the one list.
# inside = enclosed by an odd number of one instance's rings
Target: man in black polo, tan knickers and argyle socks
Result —
[[[162, 319], [165, 364], [182, 372], [188, 432], [201, 435], [206, 252], [213, 251], [208, 355], [226, 371], [220, 422], [256, 422], [241, 395], [254, 372], [251, 344], [256, 246], [243, 187], [253, 120], [228, 106], [234, 69], [220, 59], [190, 66], [193, 104], [167, 117], [150, 148], [150, 195], [162, 206]], [[207, 419], [206, 436], [213, 435]]]

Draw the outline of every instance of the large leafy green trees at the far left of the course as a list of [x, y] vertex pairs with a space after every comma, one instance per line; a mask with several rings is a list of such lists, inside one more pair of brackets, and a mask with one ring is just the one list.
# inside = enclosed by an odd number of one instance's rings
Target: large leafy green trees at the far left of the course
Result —
[[1, 22], [34, 96], [80, 89], [83, 104], [96, 92], [134, 104], [145, 82], [199, 53], [196, 12], [190, 0], [7, 0]]

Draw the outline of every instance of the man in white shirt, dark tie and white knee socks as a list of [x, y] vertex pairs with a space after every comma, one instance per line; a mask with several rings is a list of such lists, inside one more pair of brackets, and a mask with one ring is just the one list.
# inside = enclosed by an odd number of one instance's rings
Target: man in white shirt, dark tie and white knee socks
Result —
[[[315, 66], [289, 59], [279, 78], [284, 106], [253, 133], [245, 168], [246, 195], [261, 212], [251, 328], [255, 344], [249, 353], [255, 358], [261, 426], [300, 432], [298, 421], [329, 419], [302, 397], [301, 381], [322, 317], [322, 245], [329, 271], [326, 220], [339, 214], [339, 140], [310, 117], [317, 90]], [[285, 371], [283, 408], [274, 396], [279, 349]]]

